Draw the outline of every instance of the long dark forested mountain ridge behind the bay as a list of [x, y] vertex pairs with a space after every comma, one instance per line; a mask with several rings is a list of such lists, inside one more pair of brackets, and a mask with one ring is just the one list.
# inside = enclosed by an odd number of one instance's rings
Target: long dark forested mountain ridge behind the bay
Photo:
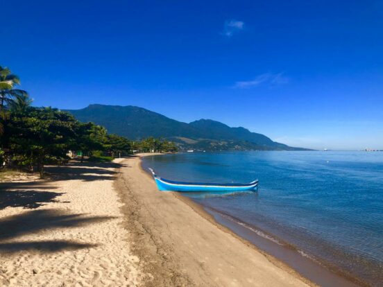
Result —
[[246, 128], [230, 128], [219, 121], [201, 119], [182, 123], [142, 107], [89, 105], [67, 110], [79, 121], [103, 125], [108, 132], [128, 137], [164, 137], [178, 143], [181, 150], [305, 150], [277, 143], [264, 134]]

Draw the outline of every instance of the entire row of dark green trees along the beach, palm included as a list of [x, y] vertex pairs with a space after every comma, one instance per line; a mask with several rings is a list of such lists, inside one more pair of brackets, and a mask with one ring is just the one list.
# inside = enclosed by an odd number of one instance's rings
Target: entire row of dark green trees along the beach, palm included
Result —
[[0, 67], [0, 164], [44, 176], [44, 165], [64, 164], [70, 157], [107, 161], [137, 152], [175, 152], [162, 139], [132, 142], [108, 134], [101, 125], [81, 123], [68, 112], [51, 107], [31, 107], [25, 91], [15, 89], [19, 78]]

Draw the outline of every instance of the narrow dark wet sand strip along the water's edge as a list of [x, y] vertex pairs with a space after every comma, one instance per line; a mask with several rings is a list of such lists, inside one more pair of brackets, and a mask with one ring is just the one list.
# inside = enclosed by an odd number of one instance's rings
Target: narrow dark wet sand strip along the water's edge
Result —
[[[142, 158], [140, 160], [140, 168], [151, 178], [151, 175], [142, 166]], [[273, 262], [275, 266], [283, 268], [291, 275], [300, 278], [309, 285], [316, 286], [318, 284], [319, 286], [350, 287], [369, 286], [364, 281], [342, 272], [337, 267], [323, 266], [322, 263], [319, 263], [316, 259], [299, 254], [299, 250], [296, 249], [296, 247], [289, 245], [289, 243], [283, 242], [285, 244], [278, 246], [278, 243], [262, 238], [262, 236], [259, 236], [259, 234], [257, 235], [254, 230], [249, 232], [249, 230], [246, 230], [246, 227], [240, 226], [241, 224], [236, 222], [236, 218], [225, 216], [224, 214], [221, 214], [221, 211], [215, 211], [211, 208], [204, 207], [191, 198], [182, 195], [182, 193], [171, 193], [174, 197], [178, 198], [178, 200], [189, 205], [191, 209], [201, 217], [205, 218], [205, 220], [210, 221], [212, 225], [221, 229], [223, 232], [227, 232], [231, 236], [234, 236], [242, 243], [257, 250], [257, 252], [261, 252], [269, 259], [269, 261]], [[230, 217], [230, 219], [225, 217]], [[257, 231], [266, 234], [266, 237], [269, 236], [269, 234], [258, 227]], [[271, 237], [274, 238], [275, 236], [271, 235]], [[278, 239], [278, 241], [279, 240], [280, 239]]]

